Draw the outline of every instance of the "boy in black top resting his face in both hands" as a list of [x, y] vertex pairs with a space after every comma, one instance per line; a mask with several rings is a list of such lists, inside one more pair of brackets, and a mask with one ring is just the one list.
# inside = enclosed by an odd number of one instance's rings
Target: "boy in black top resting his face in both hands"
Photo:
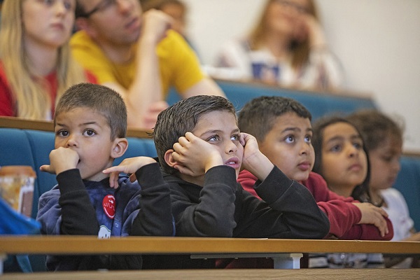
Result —
[[[171, 188], [176, 236], [321, 239], [327, 216], [309, 190], [288, 179], [239, 132], [235, 108], [223, 97], [183, 99], [158, 116], [153, 132]], [[253, 197], [237, 183], [241, 168], [259, 180]], [[148, 260], [149, 268], [214, 267], [188, 256]]]

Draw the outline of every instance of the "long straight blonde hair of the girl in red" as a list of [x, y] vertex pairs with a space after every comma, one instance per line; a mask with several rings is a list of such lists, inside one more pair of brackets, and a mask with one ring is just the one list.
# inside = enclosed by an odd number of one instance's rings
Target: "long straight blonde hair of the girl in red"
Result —
[[[50, 90], [43, 77], [29, 72], [23, 44], [23, 1], [25, 0], [5, 0], [1, 7], [0, 59], [15, 102], [15, 116], [45, 119], [52, 107]], [[71, 57], [69, 43], [64, 43], [57, 51], [56, 103], [66, 88], [86, 81], [82, 67]]]

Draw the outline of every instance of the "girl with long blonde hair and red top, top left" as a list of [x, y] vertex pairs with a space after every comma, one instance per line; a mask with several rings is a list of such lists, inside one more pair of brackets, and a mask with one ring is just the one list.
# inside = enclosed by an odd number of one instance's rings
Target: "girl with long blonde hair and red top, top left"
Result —
[[67, 87], [96, 82], [71, 59], [76, 0], [5, 0], [0, 29], [0, 116], [50, 120]]

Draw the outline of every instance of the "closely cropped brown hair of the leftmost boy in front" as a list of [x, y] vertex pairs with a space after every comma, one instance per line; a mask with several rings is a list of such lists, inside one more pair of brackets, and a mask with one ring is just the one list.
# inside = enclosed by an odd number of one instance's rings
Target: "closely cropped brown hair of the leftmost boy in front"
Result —
[[92, 83], [78, 83], [69, 87], [55, 108], [55, 119], [60, 113], [76, 108], [87, 108], [100, 113], [111, 128], [111, 140], [127, 133], [127, 108], [123, 98], [109, 87]]

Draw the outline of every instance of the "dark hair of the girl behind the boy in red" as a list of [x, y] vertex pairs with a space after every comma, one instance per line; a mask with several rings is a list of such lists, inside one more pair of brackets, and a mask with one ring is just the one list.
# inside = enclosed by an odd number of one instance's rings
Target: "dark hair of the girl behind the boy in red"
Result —
[[314, 134], [312, 134], [312, 146], [314, 146], [314, 151], [315, 151], [315, 163], [314, 163], [314, 168], [312, 169], [312, 171], [323, 176], [323, 169], [321, 167], [323, 132], [325, 130], [325, 127], [334, 125], [335, 123], [348, 123], [349, 125], [355, 128], [355, 130], [360, 135], [360, 139], [362, 139], [363, 151], [365, 151], [366, 160], [367, 160], [367, 174], [366, 174], [365, 181], [363, 181], [360, 185], [356, 186], [356, 188], [353, 189], [353, 192], [351, 193], [351, 197], [353, 197], [353, 199], [358, 200], [360, 202], [371, 202], [370, 192], [369, 192], [369, 181], [370, 181], [369, 156], [366, 150], [365, 143], [363, 141], [362, 134], [360, 134], [357, 127], [353, 125], [352, 123], [350, 123], [349, 120], [347, 120], [346, 118], [341, 117], [341, 116], [325, 116], [323, 118], [319, 118], [316, 121], [316, 123], [314, 123], [312, 127], [314, 130]]

